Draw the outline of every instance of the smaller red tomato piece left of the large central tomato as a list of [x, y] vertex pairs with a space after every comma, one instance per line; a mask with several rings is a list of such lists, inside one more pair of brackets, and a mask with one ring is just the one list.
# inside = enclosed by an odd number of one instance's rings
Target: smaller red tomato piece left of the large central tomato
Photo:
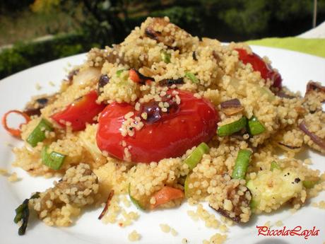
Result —
[[73, 131], [85, 129], [85, 124], [93, 123], [93, 118], [105, 108], [104, 104], [96, 103], [97, 98], [96, 91], [90, 91], [68, 105], [65, 110], [57, 112], [51, 117], [62, 127], [66, 126], [62, 122], [70, 122]]

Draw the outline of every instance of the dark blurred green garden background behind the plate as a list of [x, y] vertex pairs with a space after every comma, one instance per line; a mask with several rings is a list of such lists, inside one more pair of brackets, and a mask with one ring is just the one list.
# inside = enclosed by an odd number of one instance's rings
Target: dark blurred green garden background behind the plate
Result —
[[[43, 62], [121, 42], [147, 16], [192, 35], [244, 41], [312, 28], [314, 0], [1, 0], [0, 79]], [[317, 1], [317, 24], [325, 0]]]

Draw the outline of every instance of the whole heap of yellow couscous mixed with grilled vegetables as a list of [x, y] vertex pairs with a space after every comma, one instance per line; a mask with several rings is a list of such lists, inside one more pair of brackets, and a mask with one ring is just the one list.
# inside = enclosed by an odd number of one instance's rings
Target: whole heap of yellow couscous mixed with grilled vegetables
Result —
[[299, 209], [324, 190], [324, 173], [295, 158], [306, 146], [325, 153], [324, 100], [314, 81], [305, 96], [288, 91], [271, 62], [244, 43], [223, 45], [166, 17], [148, 18], [119, 45], [90, 50], [57, 93], [10, 111], [25, 117], [19, 129], [4, 117], [8, 132], [25, 141], [13, 149], [13, 165], [32, 176], [62, 176], [16, 209], [19, 233], [28, 211], [50, 226], [69, 226], [88, 205], [102, 204], [99, 219], [123, 227], [138, 214], [122, 204], [158, 211], [187, 200], [198, 204], [193, 219], [223, 232], [224, 223], [246, 223], [285, 204]]

